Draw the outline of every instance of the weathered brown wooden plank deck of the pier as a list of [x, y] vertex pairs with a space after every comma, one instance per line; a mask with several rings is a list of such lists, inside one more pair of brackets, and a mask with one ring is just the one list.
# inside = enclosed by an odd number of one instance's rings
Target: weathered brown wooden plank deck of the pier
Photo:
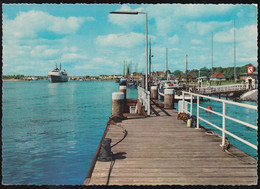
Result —
[[[97, 161], [86, 185], [256, 185], [257, 161], [152, 103], [151, 116], [110, 125], [111, 162]], [[124, 133], [126, 132], [126, 133]], [[112, 169], [110, 169], [112, 168]]]

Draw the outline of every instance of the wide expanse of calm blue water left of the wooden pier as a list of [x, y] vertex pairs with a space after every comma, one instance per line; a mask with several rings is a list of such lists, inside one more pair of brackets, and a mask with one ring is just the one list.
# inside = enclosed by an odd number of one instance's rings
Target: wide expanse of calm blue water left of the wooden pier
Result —
[[3, 82], [3, 183], [82, 184], [118, 90], [113, 81]]

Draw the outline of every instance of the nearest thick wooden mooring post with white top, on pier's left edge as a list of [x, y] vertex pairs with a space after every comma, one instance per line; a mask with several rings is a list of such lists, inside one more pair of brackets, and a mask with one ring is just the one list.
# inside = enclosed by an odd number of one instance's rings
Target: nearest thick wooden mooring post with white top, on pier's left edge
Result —
[[112, 93], [112, 116], [122, 117], [124, 111], [124, 93], [114, 92]]

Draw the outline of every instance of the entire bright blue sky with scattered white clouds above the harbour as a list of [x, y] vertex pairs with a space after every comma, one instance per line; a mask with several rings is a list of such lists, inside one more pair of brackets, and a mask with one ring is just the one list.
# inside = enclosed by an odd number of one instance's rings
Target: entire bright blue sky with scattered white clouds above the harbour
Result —
[[[69, 76], [122, 74], [123, 62], [145, 73], [145, 14], [151, 70], [257, 66], [257, 5], [3, 4], [4, 75], [47, 76], [61, 64]], [[235, 23], [235, 27], [234, 27]], [[213, 40], [212, 40], [213, 39]], [[212, 51], [213, 41], [213, 51]]]

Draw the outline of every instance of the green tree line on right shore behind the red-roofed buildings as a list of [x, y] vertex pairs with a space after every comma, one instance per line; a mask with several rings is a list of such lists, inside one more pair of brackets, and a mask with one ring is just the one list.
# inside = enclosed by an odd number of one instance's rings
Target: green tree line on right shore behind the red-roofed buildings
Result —
[[[246, 64], [241, 67], [239, 67], [239, 66], [236, 67], [237, 79], [239, 79], [240, 74], [247, 73], [247, 66], [253, 66], [253, 65]], [[257, 72], [257, 70], [258, 70], [258, 65], [257, 65], [257, 67], [254, 67], [254, 71]], [[213, 69], [203, 67], [200, 70], [192, 69], [192, 70], [187, 70], [187, 76], [190, 75], [194, 78], [202, 77], [202, 76], [210, 77], [215, 72], [222, 73], [228, 79], [234, 79], [234, 67], [227, 67], [227, 68], [213, 67]], [[185, 77], [185, 75], [186, 75], [185, 74], [186, 72], [182, 72], [181, 70], [175, 70], [172, 73], [178, 77], [180, 77], [180, 76]]]

